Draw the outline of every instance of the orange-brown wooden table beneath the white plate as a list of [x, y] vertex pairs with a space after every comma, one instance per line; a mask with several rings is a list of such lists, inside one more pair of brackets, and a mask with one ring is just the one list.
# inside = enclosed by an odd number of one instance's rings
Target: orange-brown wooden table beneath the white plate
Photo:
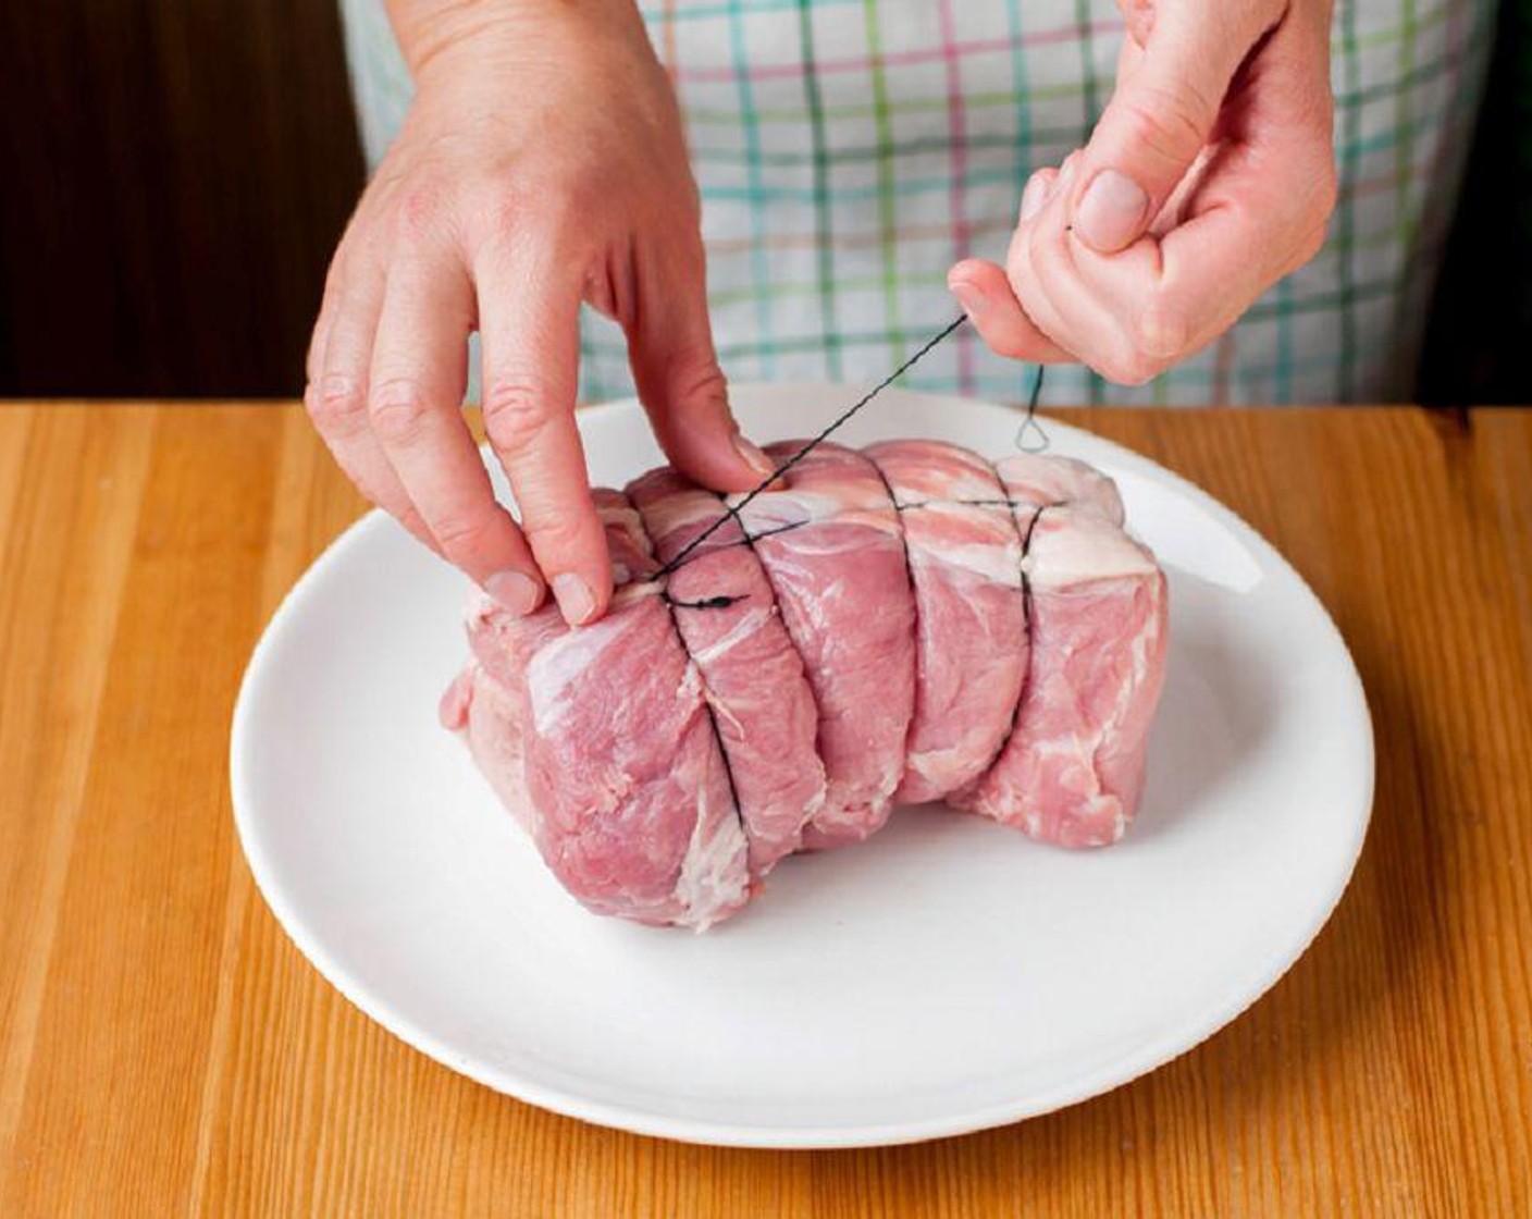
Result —
[[230, 708], [363, 511], [297, 409], [0, 408], [0, 1216], [1532, 1213], [1532, 412], [1088, 422], [1232, 504], [1340, 624], [1379, 744], [1356, 880], [1267, 998], [1135, 1084], [768, 1153], [458, 1078], [267, 911]]

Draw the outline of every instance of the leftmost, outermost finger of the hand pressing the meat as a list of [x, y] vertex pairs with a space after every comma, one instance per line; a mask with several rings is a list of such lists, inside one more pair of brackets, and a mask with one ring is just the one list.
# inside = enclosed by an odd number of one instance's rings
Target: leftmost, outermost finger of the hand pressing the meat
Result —
[[336, 465], [374, 504], [440, 554], [389, 465], [368, 419], [372, 337], [383, 308], [383, 271], [371, 259], [336, 255], [309, 343], [303, 406]]

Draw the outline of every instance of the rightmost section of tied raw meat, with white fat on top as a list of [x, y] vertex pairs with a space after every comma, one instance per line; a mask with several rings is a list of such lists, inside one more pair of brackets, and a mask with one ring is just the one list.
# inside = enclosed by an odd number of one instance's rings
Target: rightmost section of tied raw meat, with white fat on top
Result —
[[1031, 664], [1016, 725], [953, 803], [1043, 842], [1105, 846], [1143, 790], [1164, 679], [1164, 575], [1094, 501], [1037, 509], [1023, 570]]

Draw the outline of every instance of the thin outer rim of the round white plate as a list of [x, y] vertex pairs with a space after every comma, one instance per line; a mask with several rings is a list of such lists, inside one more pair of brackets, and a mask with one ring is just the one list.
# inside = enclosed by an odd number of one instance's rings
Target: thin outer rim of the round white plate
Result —
[[[807, 391], [818, 394], [826, 389], [841, 388], [852, 389], [855, 386], [841, 386], [833, 382], [803, 380], [740, 382], [732, 385], [731, 391], [738, 403], [746, 397], [754, 397], [761, 393], [783, 394], [792, 391]], [[913, 389], [890, 389], [887, 393], [896, 397], [925, 400], [931, 405], [942, 403], [944, 406], [961, 408], [980, 406], [988, 409], [1011, 409], [1002, 403], [984, 399], [961, 399], [948, 394]], [[582, 406], [579, 416], [582, 419], [590, 419], [634, 409], [639, 409], [637, 400], [630, 397]], [[1183, 478], [1175, 471], [1161, 466], [1158, 462], [1144, 457], [1143, 454], [1138, 454], [1115, 440], [1097, 435], [1088, 428], [1066, 423], [1046, 412], [1040, 414], [1048, 428], [1059, 429], [1059, 434], [1062, 435], [1085, 439], [1089, 446], [1102, 446], [1105, 451], [1111, 452], [1115, 460], [1120, 460], [1124, 468], [1135, 469], [1135, 472], [1152, 477], [1155, 481], [1161, 481], [1170, 489], [1189, 497], [1198, 504], [1198, 508], [1209, 512], [1215, 520], [1229, 527], [1242, 544], [1253, 550], [1262, 569], [1275, 566], [1291, 581], [1295, 590], [1310, 603], [1313, 610], [1318, 612], [1318, 621], [1322, 623], [1327, 632], [1327, 642], [1334, 652], [1334, 659], [1344, 661], [1340, 665], [1340, 676], [1345, 679], [1347, 696], [1351, 704], [1348, 707], [1348, 718], [1354, 721], [1353, 727], [1357, 730], [1357, 764], [1362, 770], [1362, 791], [1359, 799], [1360, 811], [1353, 822], [1354, 828], [1351, 840], [1347, 843], [1344, 854], [1337, 857], [1337, 874], [1327, 879], [1327, 888], [1331, 888], [1333, 894], [1330, 900], [1322, 905], [1322, 908], [1316, 909], [1316, 917], [1313, 918], [1311, 926], [1308, 926], [1301, 935], [1295, 937], [1291, 943], [1285, 945], [1282, 952], [1272, 954], [1267, 958], [1268, 963], [1264, 969], [1255, 971], [1249, 980], [1238, 986], [1232, 986], [1221, 1003], [1216, 1006], [1206, 1004], [1200, 1007], [1198, 1017], [1187, 1021], [1186, 1026], [1177, 1026], [1152, 1041], [1143, 1043], [1131, 1050], [1124, 1050], [1094, 1064], [1088, 1072], [1083, 1072], [1068, 1086], [1056, 1086], [1054, 1089], [1042, 1093], [1030, 1093], [1022, 1099], [1011, 1102], [994, 1102], [979, 1106], [976, 1109], [941, 1113], [925, 1119], [902, 1119], [882, 1124], [780, 1125], [746, 1121], [719, 1122], [706, 1118], [657, 1113], [637, 1104], [622, 1104], [581, 1095], [574, 1087], [547, 1084], [516, 1070], [496, 1069], [493, 1064], [453, 1052], [430, 1029], [420, 1026], [417, 1021], [394, 1009], [386, 998], [374, 994], [368, 986], [360, 983], [348, 969], [345, 961], [332, 955], [320, 943], [319, 937], [309, 932], [303, 917], [290, 900], [288, 892], [283, 889], [280, 868], [267, 856], [260, 834], [250, 811], [254, 803], [254, 797], [250, 788], [251, 780], [245, 764], [245, 754], [250, 750], [253, 734], [251, 704], [256, 699], [256, 692], [259, 692], [260, 684], [267, 679], [265, 675], [268, 672], [270, 655], [277, 646], [276, 641], [286, 633], [290, 623], [293, 621], [291, 607], [308, 596], [311, 587], [325, 578], [325, 573], [340, 560], [340, 555], [362, 544], [362, 540], [368, 534], [378, 527], [386, 527], [388, 517], [381, 509], [372, 509], [346, 526], [346, 529], [343, 529], [329, 544], [325, 546], [325, 549], [282, 595], [282, 600], [273, 610], [271, 618], [262, 627], [260, 638], [256, 641], [241, 676], [239, 695], [234, 701], [231, 718], [228, 754], [234, 828], [256, 888], [267, 902], [267, 906], [271, 909], [273, 917], [276, 917], [277, 925], [288, 935], [288, 938], [293, 940], [294, 946], [319, 972], [319, 975], [334, 986], [336, 991], [340, 992], [348, 1003], [351, 1003], [351, 1006], [443, 1067], [447, 1067], [458, 1075], [464, 1075], [495, 1092], [564, 1116], [578, 1118], [581, 1121], [594, 1122], [610, 1129], [627, 1130], [636, 1135], [666, 1138], [700, 1145], [774, 1150], [826, 1150], [887, 1147], [950, 1138], [954, 1135], [1008, 1125], [1026, 1118], [1042, 1116], [1094, 1096], [1105, 1095], [1201, 1046], [1210, 1037], [1238, 1020], [1256, 1001], [1264, 998], [1267, 992], [1270, 992], [1270, 989], [1298, 963], [1298, 960], [1318, 938], [1319, 932], [1328, 925], [1340, 903], [1340, 899], [1350, 888], [1351, 879], [1356, 872], [1356, 863], [1360, 859], [1367, 833], [1371, 825], [1377, 785], [1376, 734], [1367, 690], [1362, 684], [1360, 673], [1357, 672], [1356, 659], [1353, 658], [1350, 647], [1347, 647], [1345, 638], [1330, 615], [1330, 610], [1308, 586], [1308, 581], [1305, 581], [1291, 563], [1288, 563], [1287, 557], [1267, 541], [1258, 529], [1250, 526], [1227, 504], [1221, 503], [1187, 478]]]

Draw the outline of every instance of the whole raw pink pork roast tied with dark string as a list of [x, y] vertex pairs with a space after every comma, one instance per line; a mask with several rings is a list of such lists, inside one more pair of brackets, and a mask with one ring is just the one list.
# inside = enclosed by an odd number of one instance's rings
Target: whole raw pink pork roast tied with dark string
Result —
[[671, 469], [596, 491], [617, 592], [591, 626], [470, 601], [443, 722], [564, 886], [702, 929], [895, 803], [1121, 837], [1166, 581], [1115, 485], [933, 440], [824, 443], [783, 483], [738, 508]]

